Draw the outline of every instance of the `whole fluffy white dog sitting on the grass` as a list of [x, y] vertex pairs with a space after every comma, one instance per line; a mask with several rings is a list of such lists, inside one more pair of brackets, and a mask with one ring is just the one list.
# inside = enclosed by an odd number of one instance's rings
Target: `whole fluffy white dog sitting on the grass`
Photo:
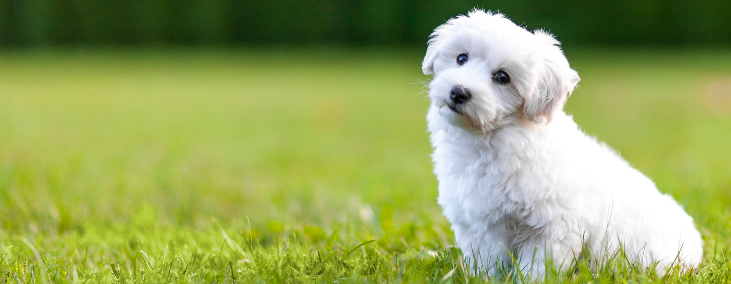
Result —
[[661, 274], [698, 266], [693, 219], [563, 111], [579, 76], [551, 34], [475, 9], [436, 28], [422, 68], [439, 204], [467, 261], [540, 277], [621, 248]]

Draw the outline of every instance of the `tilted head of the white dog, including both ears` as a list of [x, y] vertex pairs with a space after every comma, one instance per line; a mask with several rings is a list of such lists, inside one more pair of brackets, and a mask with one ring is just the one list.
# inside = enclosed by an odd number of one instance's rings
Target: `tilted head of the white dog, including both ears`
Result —
[[430, 119], [481, 133], [549, 122], [579, 81], [553, 35], [480, 9], [434, 30], [422, 69], [434, 74]]

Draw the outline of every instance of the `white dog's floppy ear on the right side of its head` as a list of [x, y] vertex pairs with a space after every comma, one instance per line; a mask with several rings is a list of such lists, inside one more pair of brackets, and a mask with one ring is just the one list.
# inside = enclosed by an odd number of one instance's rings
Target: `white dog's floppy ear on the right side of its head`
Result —
[[534, 123], [549, 122], [553, 112], [564, 107], [566, 99], [576, 88], [579, 74], [571, 69], [561, 44], [545, 31], [534, 31], [547, 49], [539, 55], [531, 74], [532, 88], [523, 101], [523, 113]]

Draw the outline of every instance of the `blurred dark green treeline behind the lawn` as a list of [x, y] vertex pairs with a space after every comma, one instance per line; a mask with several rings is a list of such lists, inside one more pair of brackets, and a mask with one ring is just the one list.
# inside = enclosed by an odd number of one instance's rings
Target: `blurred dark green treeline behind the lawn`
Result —
[[476, 6], [564, 42], [731, 43], [731, 0], [0, 0], [0, 46], [423, 45]]

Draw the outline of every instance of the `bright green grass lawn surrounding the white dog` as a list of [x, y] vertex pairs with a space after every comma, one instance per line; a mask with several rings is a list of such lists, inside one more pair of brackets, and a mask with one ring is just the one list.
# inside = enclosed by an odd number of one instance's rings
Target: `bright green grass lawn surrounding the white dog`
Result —
[[[436, 204], [422, 51], [5, 51], [0, 283], [487, 280]], [[706, 257], [546, 282], [728, 283], [731, 51], [567, 55], [567, 111], [683, 204]]]

